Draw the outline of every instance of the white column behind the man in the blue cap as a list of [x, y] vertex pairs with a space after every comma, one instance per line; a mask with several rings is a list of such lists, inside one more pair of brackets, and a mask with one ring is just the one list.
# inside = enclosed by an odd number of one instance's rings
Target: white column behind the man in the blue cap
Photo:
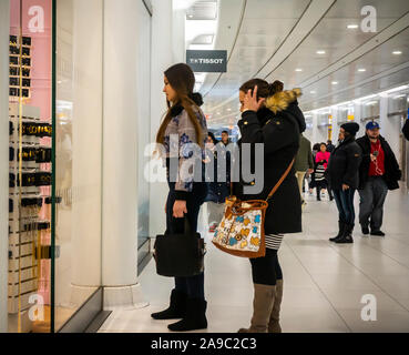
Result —
[[401, 120], [396, 116], [388, 118], [388, 95], [381, 95], [379, 102], [380, 134], [388, 141], [398, 162], [400, 162]]

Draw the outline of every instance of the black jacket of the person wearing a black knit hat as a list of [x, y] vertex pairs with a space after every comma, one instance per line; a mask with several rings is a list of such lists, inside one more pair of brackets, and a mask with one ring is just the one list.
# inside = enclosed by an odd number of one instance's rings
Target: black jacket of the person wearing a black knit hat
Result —
[[336, 146], [325, 172], [330, 187], [333, 190], [342, 190], [342, 184], [346, 184], [351, 189], [358, 189], [361, 159], [361, 149], [354, 136], [348, 136]]

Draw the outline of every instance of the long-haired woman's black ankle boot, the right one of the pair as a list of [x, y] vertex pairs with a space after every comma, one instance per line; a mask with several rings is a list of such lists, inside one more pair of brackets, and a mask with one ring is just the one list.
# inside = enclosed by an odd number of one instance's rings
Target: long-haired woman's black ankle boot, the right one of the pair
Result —
[[188, 332], [207, 328], [206, 320], [207, 302], [198, 298], [187, 298], [185, 317], [167, 328], [172, 332]]

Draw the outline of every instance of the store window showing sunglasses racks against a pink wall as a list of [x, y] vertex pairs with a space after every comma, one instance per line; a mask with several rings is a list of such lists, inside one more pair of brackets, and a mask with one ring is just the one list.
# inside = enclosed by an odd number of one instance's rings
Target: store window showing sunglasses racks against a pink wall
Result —
[[10, 1], [9, 332], [51, 329], [52, 1]]

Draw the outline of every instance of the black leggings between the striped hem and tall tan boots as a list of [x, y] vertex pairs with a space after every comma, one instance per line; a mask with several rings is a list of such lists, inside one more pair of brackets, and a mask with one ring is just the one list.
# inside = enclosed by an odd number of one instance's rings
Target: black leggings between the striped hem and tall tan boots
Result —
[[277, 280], [283, 280], [283, 271], [276, 250], [266, 248], [266, 256], [250, 258], [253, 283], [275, 286]]

